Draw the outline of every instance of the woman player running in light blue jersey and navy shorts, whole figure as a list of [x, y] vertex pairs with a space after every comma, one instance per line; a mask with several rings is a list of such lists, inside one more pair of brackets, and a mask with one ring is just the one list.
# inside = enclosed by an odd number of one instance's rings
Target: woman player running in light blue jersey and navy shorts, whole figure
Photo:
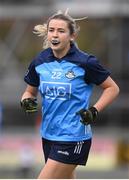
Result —
[[[40, 92], [45, 166], [38, 179], [75, 177], [76, 167], [86, 165], [88, 159], [91, 124], [119, 93], [110, 72], [76, 46], [77, 20], [68, 12], [58, 12], [34, 28], [34, 33], [43, 36], [44, 50], [29, 65], [21, 106], [25, 112], [35, 112]], [[103, 91], [89, 106], [94, 85]]]

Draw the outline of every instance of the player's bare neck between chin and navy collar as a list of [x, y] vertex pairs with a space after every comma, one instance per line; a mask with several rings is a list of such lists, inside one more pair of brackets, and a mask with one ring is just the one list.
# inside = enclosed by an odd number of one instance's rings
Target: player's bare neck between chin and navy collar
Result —
[[66, 47], [64, 50], [61, 50], [61, 49], [53, 50], [53, 54], [55, 57], [61, 59], [68, 53], [69, 49], [70, 49], [70, 45], [68, 47]]

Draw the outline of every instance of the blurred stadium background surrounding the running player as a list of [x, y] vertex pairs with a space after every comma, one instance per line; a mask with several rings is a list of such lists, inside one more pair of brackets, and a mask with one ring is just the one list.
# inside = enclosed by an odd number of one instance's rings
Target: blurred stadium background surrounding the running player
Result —
[[[0, 178], [37, 178], [44, 165], [39, 112], [25, 115], [20, 98], [31, 60], [42, 50], [32, 33], [57, 10], [80, 21], [79, 48], [96, 55], [120, 87], [93, 125], [93, 143], [80, 179], [129, 178], [129, 0], [0, 0]], [[101, 90], [95, 87], [91, 102]]]

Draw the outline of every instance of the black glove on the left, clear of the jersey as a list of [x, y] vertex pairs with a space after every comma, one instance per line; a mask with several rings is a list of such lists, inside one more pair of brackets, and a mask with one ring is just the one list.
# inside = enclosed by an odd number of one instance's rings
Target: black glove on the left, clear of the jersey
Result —
[[38, 103], [37, 99], [35, 98], [26, 98], [23, 99], [21, 102], [21, 107], [26, 113], [33, 113], [38, 111]]

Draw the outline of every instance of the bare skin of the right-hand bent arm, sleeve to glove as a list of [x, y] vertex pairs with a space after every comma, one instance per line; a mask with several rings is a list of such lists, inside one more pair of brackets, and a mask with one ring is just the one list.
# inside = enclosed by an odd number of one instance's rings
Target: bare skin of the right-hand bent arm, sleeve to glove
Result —
[[107, 105], [109, 105], [119, 94], [119, 87], [117, 84], [112, 80], [111, 77], [108, 77], [101, 85], [100, 87], [103, 89], [103, 93], [98, 99], [98, 101], [95, 103], [94, 107], [101, 111], [103, 110]]

